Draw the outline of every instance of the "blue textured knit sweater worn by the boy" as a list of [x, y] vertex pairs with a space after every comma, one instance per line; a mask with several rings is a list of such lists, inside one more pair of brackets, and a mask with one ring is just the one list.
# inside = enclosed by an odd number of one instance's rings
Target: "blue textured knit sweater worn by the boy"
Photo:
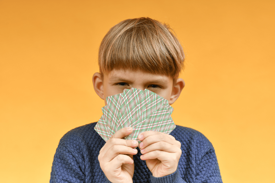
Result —
[[[77, 127], [60, 140], [53, 159], [50, 183], [110, 183], [97, 156], [105, 141], [94, 130], [96, 123]], [[182, 155], [173, 174], [156, 178], [134, 155], [134, 183], [222, 183], [215, 150], [209, 140], [192, 128], [176, 126], [170, 133], [181, 142]]]

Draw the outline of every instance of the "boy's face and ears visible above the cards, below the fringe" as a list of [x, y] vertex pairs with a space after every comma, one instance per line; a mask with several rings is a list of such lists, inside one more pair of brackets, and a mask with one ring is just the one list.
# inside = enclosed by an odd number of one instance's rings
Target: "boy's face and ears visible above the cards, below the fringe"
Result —
[[172, 77], [132, 70], [112, 70], [108, 75], [104, 75], [103, 82], [100, 74], [95, 73], [93, 82], [97, 95], [104, 99], [105, 105], [107, 105], [106, 97], [123, 93], [124, 89], [130, 88], [140, 90], [146, 88], [167, 99], [171, 105], [184, 87], [184, 81], [181, 78], [173, 86]]

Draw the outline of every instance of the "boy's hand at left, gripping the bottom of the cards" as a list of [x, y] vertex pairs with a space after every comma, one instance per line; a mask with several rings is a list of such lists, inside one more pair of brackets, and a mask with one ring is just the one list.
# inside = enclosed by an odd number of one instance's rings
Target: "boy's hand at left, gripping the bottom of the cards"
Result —
[[[100, 167], [112, 183], [133, 182], [133, 155], [138, 153], [138, 150], [133, 148], [138, 146], [138, 141], [122, 139], [130, 135], [132, 131], [132, 127], [120, 129], [112, 135], [99, 151], [98, 161]], [[126, 154], [130, 154], [130, 156]]]

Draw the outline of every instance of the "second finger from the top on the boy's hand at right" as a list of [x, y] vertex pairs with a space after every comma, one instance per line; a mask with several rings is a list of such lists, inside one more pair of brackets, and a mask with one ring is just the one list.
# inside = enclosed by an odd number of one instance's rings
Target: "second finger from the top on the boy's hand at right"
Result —
[[166, 135], [163, 135], [163, 134], [158, 134], [158, 135], [151, 135], [143, 139], [143, 141], [139, 144], [139, 148], [144, 149], [148, 145], [156, 142], [160, 142], [160, 141], [167, 142], [169, 144], [176, 145], [176, 146], [179, 145], [177, 140], [173, 140], [172, 138], [167, 137]]

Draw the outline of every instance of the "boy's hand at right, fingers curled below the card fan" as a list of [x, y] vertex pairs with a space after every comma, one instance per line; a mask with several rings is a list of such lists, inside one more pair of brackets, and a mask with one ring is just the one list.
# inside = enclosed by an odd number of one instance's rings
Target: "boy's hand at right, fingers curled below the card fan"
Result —
[[139, 149], [154, 177], [170, 175], [177, 170], [182, 155], [181, 143], [172, 135], [158, 131], [145, 131], [138, 135]]

